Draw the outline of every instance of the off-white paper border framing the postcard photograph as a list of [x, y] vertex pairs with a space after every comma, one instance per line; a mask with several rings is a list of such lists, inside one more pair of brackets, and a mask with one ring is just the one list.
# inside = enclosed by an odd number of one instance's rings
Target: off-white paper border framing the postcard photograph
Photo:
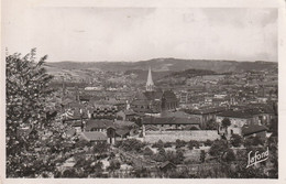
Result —
[[[286, 29], [285, 29], [285, 1], [283, 0], [2, 0], [1, 1], [1, 20], [4, 19], [3, 11], [7, 11], [6, 6], [8, 3], [19, 3], [19, 7], [161, 7], [161, 8], [278, 8], [278, 93], [279, 93], [279, 101], [278, 101], [278, 109], [279, 109], [279, 138], [278, 138], [278, 158], [279, 158], [279, 178], [278, 180], [231, 180], [231, 178], [188, 178], [188, 180], [173, 180], [173, 178], [4, 178], [4, 171], [6, 171], [6, 80], [4, 80], [4, 72], [6, 72], [6, 64], [4, 64], [4, 48], [1, 47], [1, 58], [2, 62], [0, 64], [1, 69], [1, 78], [0, 78], [0, 105], [1, 105], [1, 113], [0, 113], [0, 183], [9, 183], [9, 184], [18, 184], [18, 183], [125, 183], [125, 182], [135, 182], [135, 183], [286, 183], [286, 148], [285, 145], [285, 133], [286, 130], [286, 97], [284, 97], [286, 83], [284, 83], [284, 78], [286, 78], [286, 66], [285, 66], [285, 36], [286, 36]], [[10, 11], [10, 10], [9, 10]], [[13, 10], [11, 10], [13, 11]], [[16, 13], [16, 11], [15, 11]], [[1, 21], [2, 23], [2, 21]], [[1, 30], [2, 33], [2, 30]], [[3, 35], [1, 34], [1, 41]]]

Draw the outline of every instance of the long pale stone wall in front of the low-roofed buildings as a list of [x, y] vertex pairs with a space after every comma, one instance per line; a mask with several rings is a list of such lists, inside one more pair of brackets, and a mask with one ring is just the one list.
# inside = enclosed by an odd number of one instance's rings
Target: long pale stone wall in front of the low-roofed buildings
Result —
[[194, 130], [194, 131], [150, 131], [144, 137], [145, 142], [154, 143], [158, 140], [163, 142], [175, 142], [177, 139], [184, 141], [206, 141], [220, 139], [217, 130]]

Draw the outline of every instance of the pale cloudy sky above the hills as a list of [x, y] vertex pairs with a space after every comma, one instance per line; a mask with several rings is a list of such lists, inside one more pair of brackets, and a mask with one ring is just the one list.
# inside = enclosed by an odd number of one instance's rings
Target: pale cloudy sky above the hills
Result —
[[48, 62], [277, 62], [277, 9], [38, 7], [6, 15], [9, 52], [37, 47]]

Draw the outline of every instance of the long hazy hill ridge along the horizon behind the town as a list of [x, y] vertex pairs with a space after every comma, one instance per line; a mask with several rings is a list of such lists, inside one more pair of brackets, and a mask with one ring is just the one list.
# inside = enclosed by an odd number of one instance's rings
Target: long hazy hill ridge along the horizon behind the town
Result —
[[153, 72], [179, 72], [185, 69], [207, 69], [216, 73], [245, 72], [276, 69], [277, 63], [272, 62], [235, 62], [211, 59], [179, 59], [153, 58], [139, 62], [57, 62], [47, 63], [47, 71], [53, 69], [97, 69], [97, 71], [146, 71], [148, 66]]

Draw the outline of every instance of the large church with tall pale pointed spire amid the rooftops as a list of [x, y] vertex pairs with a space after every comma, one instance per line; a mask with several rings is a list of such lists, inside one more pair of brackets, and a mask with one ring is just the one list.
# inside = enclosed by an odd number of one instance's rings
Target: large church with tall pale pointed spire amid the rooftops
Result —
[[178, 107], [178, 99], [172, 90], [155, 89], [152, 72], [148, 68], [146, 89], [140, 91], [131, 108], [139, 113], [161, 113], [162, 111], [174, 111]]

